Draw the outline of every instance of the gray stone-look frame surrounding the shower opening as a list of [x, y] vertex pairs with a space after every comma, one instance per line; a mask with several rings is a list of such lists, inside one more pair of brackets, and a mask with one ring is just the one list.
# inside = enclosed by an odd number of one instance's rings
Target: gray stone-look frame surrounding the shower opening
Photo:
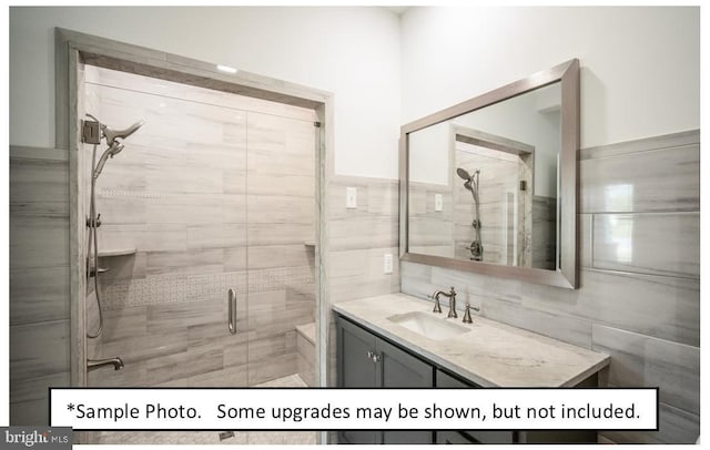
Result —
[[71, 385], [87, 386], [85, 338], [85, 256], [82, 238], [85, 231], [87, 201], [84, 188], [85, 152], [81, 145], [82, 85], [85, 63], [124, 72], [166, 79], [240, 95], [312, 109], [315, 127], [315, 238], [316, 238], [316, 368], [317, 385], [327, 386], [328, 324], [327, 304], [327, 223], [325, 221], [326, 186], [334, 173], [333, 94], [268, 76], [237, 71], [224, 73], [216, 64], [172, 53], [146, 49], [105, 38], [55, 28], [55, 146], [69, 149], [69, 255], [70, 255], [70, 367]]

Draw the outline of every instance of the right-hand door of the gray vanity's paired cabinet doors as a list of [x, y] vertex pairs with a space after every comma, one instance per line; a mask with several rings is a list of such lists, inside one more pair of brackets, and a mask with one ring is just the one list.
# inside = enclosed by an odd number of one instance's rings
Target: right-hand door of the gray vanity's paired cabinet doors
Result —
[[[432, 388], [434, 368], [419, 358], [377, 339], [379, 386], [384, 388]], [[432, 431], [384, 431], [384, 443], [433, 443]]]

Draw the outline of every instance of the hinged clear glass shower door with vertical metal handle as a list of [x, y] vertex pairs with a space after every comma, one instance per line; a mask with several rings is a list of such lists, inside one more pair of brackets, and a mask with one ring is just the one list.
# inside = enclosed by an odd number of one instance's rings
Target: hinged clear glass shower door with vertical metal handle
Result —
[[[144, 119], [97, 183], [103, 334], [89, 386], [247, 386], [246, 116], [214, 91], [87, 67], [87, 111]], [[227, 293], [235, 293], [235, 334]], [[92, 301], [89, 297], [88, 309]]]

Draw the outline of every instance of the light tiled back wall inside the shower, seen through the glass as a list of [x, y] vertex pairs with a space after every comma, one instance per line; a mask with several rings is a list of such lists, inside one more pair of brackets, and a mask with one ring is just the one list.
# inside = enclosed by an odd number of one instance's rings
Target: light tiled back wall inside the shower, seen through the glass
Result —
[[[253, 386], [297, 371], [315, 308], [314, 112], [87, 67], [87, 111], [145, 125], [98, 180], [94, 386]], [[237, 294], [227, 331], [227, 289]], [[91, 301], [91, 300], [90, 300]], [[90, 347], [91, 351], [91, 347]]]

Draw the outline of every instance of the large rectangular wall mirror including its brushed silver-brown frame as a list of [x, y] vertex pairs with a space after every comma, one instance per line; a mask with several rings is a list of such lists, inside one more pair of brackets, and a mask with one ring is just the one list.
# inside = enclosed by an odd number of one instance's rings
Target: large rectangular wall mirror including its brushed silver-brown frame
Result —
[[400, 258], [577, 287], [579, 61], [402, 127]]

